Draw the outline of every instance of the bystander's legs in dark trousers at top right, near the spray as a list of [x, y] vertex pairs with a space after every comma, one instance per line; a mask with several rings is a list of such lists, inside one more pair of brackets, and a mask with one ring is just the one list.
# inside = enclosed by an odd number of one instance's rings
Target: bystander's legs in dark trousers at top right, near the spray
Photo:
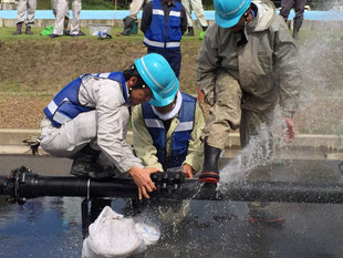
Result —
[[303, 12], [308, 0], [281, 0], [280, 16], [283, 17], [284, 21], [288, 21], [291, 9], [294, 7], [294, 24], [293, 24], [293, 39], [298, 40], [298, 33], [303, 21]]

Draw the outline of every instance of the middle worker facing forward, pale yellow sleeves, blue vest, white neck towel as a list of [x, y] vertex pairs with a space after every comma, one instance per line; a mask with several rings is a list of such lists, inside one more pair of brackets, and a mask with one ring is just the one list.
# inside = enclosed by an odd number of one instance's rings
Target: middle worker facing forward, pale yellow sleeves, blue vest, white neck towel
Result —
[[132, 125], [133, 146], [145, 166], [183, 171], [186, 178], [201, 171], [205, 118], [195, 97], [176, 89], [167, 99], [143, 103], [134, 109]]

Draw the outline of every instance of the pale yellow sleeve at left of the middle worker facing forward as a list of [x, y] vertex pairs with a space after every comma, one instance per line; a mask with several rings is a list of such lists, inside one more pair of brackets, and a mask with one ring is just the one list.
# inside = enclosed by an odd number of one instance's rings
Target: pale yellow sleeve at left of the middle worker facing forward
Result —
[[163, 172], [163, 166], [156, 156], [157, 149], [153, 138], [144, 123], [142, 105], [134, 107], [132, 112], [133, 147], [137, 157], [143, 161], [146, 167], [157, 167]]

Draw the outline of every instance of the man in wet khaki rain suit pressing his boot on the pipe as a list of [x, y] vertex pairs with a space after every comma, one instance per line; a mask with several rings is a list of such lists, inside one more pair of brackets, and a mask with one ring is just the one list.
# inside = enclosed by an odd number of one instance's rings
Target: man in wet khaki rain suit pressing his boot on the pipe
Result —
[[272, 153], [271, 124], [280, 106], [285, 142], [294, 138], [292, 117], [301, 73], [297, 45], [271, 1], [214, 3], [216, 22], [208, 28], [198, 54], [197, 81], [210, 105], [202, 133], [205, 162], [199, 179], [217, 184], [218, 158], [230, 132], [239, 128], [241, 146], [246, 147], [263, 125], [269, 134], [264, 151], [267, 155]]

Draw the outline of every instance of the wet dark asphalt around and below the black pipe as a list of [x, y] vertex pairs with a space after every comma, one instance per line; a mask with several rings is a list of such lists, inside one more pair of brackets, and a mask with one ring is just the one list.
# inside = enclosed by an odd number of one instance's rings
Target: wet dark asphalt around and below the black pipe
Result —
[[[278, 161], [266, 167], [273, 180], [342, 182], [340, 161]], [[67, 175], [71, 161], [33, 156], [0, 156], [0, 174], [25, 165], [41, 175]], [[258, 169], [263, 169], [259, 167]], [[80, 197], [42, 197], [11, 205], [0, 197], [0, 257], [81, 257]], [[125, 202], [114, 200], [121, 213]], [[336, 204], [273, 203], [270, 213], [282, 226], [249, 221], [243, 202], [200, 202], [178, 225], [165, 224], [156, 246], [135, 257], [341, 258], [343, 208]], [[156, 220], [154, 220], [156, 219]]]

